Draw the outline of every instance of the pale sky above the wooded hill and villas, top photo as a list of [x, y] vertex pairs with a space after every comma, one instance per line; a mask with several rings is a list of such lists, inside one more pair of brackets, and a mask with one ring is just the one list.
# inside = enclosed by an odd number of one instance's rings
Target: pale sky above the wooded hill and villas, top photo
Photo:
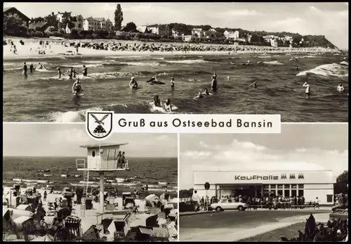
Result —
[[[4, 3], [35, 18], [72, 11], [84, 18], [109, 17], [114, 22], [117, 3]], [[121, 3], [124, 22], [136, 25], [185, 23], [244, 30], [320, 34], [348, 48], [348, 4], [329, 3]]]

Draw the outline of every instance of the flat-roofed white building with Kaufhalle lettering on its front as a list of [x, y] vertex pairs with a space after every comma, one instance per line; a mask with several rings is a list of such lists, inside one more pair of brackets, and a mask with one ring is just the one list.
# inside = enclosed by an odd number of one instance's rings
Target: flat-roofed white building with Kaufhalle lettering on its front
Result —
[[[210, 184], [208, 190], [205, 183]], [[303, 196], [305, 202], [318, 198], [319, 204], [333, 204], [331, 170], [194, 172], [194, 190], [200, 196], [247, 195], [248, 197]]]

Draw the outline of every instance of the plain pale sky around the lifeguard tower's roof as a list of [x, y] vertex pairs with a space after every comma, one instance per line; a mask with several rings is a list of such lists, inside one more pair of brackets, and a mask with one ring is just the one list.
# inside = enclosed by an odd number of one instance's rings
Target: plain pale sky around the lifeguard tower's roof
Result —
[[[97, 141], [86, 134], [85, 124], [4, 123], [4, 156], [85, 156], [82, 145]], [[178, 158], [177, 134], [112, 134], [102, 143], [114, 142], [128, 157]]]

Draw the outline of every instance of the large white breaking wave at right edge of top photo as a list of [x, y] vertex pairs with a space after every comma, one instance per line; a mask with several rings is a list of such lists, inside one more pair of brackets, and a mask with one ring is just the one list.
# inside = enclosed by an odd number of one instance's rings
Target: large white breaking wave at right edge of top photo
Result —
[[309, 73], [314, 75], [322, 76], [335, 76], [335, 77], [345, 77], [348, 76], [348, 70], [345, 65], [338, 65], [336, 63], [329, 63], [326, 65], [319, 65], [311, 70], [305, 70], [298, 73], [296, 76], [304, 76]]

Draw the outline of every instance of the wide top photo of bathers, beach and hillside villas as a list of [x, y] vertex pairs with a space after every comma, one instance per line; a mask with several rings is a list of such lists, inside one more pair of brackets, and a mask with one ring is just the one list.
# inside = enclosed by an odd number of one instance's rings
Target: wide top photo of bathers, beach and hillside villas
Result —
[[348, 4], [4, 3], [4, 122], [348, 122]]

